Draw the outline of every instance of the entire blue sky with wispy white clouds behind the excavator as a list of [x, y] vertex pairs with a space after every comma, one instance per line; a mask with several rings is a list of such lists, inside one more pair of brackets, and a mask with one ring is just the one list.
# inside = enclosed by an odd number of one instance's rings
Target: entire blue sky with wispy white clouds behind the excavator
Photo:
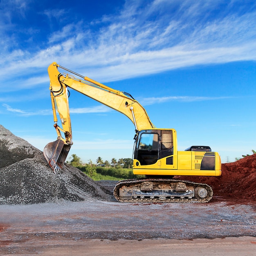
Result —
[[[256, 3], [247, 0], [0, 1], [0, 116], [40, 150], [56, 139], [47, 67], [57, 62], [129, 92], [178, 150], [222, 162], [256, 150]], [[132, 157], [124, 115], [71, 90], [76, 154]]]

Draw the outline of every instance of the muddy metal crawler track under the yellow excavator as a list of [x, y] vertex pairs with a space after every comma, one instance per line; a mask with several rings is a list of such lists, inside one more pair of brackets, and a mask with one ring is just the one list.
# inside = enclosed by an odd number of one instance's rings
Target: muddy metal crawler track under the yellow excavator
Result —
[[131, 179], [117, 182], [119, 202], [209, 202], [213, 191], [207, 184], [176, 179]]

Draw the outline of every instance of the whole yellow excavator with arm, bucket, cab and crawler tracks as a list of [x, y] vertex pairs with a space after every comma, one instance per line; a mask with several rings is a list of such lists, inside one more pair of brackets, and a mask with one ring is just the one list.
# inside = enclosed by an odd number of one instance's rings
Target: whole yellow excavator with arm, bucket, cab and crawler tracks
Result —
[[[58, 68], [65, 70], [60, 73]], [[207, 184], [174, 176], [220, 176], [221, 160], [209, 146], [177, 150], [175, 129], [156, 128], [146, 110], [131, 94], [112, 89], [65, 67], [48, 67], [50, 95], [57, 140], [47, 144], [44, 156], [54, 173], [63, 168], [73, 144], [68, 98], [69, 88], [126, 115], [135, 126], [133, 173], [144, 178], [117, 182], [113, 194], [119, 202], [209, 202], [213, 191]], [[61, 126], [57, 124], [57, 113]]]

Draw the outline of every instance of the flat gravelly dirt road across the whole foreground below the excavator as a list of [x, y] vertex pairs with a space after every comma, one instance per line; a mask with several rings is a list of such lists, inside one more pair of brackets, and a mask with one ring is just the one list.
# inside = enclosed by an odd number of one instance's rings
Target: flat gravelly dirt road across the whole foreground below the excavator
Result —
[[1, 205], [0, 224], [0, 254], [256, 255], [254, 201]]

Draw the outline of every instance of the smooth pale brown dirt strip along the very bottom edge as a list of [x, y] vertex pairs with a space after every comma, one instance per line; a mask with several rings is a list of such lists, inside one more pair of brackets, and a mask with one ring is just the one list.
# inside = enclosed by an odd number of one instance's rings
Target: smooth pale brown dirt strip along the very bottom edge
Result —
[[[5, 254], [18, 255], [70, 255], [70, 256], [254, 256], [256, 249], [256, 238], [216, 238], [175, 240], [175, 239], [145, 239], [145, 240], [47, 240], [30, 241], [18, 245], [15, 249], [9, 249]], [[2, 255], [2, 254], [1, 254]]]

